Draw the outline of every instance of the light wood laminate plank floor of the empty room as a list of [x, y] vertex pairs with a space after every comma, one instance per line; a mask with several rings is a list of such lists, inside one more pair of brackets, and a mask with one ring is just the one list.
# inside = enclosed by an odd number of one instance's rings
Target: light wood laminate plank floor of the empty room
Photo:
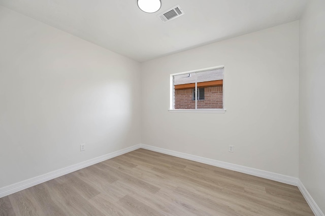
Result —
[[0, 215], [314, 215], [295, 186], [144, 149], [0, 198]]

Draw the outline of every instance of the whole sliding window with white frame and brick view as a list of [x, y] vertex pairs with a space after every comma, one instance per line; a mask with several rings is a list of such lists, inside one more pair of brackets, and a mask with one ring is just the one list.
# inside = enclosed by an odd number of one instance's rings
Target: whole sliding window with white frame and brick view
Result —
[[171, 75], [170, 110], [224, 111], [223, 67]]

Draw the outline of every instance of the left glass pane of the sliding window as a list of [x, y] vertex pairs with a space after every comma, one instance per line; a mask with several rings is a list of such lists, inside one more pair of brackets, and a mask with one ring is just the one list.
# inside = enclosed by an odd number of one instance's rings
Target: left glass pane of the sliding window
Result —
[[[195, 109], [195, 89], [196, 73], [173, 76], [174, 80], [174, 109]], [[193, 100], [194, 99], [194, 100]]]

